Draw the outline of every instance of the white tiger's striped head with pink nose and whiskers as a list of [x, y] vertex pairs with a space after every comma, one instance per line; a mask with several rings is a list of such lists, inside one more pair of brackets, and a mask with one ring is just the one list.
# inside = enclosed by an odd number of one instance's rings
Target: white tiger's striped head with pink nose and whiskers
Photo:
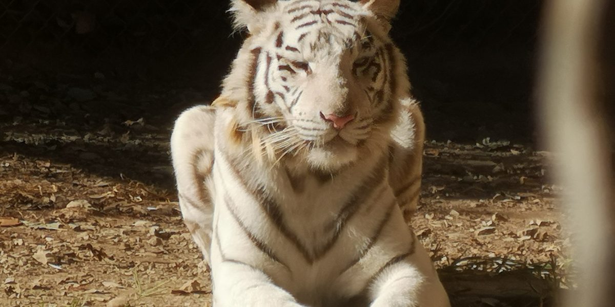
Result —
[[245, 40], [223, 96], [255, 150], [339, 169], [386, 147], [410, 84], [388, 36], [399, 0], [232, 0]]

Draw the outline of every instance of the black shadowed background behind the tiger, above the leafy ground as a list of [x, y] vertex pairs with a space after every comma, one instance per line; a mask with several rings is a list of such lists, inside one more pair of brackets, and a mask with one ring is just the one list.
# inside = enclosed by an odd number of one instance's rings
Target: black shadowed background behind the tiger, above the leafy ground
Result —
[[[407, 55], [430, 138], [535, 140], [542, 2], [403, 1], [392, 36]], [[170, 125], [218, 93], [244, 35], [232, 34], [227, 9], [227, 1], [204, 0], [0, 0], [0, 82], [120, 91]], [[165, 101], [141, 101], [152, 93]], [[98, 112], [117, 112], [98, 104]]]

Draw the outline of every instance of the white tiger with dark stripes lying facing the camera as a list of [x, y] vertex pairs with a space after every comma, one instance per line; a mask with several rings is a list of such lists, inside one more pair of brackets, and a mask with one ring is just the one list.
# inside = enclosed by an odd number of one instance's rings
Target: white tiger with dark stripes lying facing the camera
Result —
[[215, 306], [450, 306], [404, 218], [424, 124], [387, 34], [398, 7], [232, 1], [251, 36], [171, 141]]

